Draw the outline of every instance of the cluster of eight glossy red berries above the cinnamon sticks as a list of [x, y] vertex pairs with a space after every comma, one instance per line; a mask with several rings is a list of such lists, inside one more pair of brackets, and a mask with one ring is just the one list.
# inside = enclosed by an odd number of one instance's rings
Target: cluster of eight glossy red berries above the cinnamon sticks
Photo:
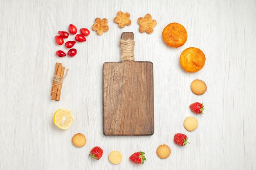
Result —
[[[70, 24], [68, 29], [69, 29], [69, 32], [73, 35], [77, 33], [77, 28], [73, 24]], [[77, 42], [84, 42], [84, 41], [86, 41], [85, 36], [88, 36], [90, 34], [90, 31], [86, 28], [81, 28], [80, 33], [81, 34], [76, 34], [75, 39], [76, 39]], [[59, 35], [55, 36], [55, 41], [58, 45], [62, 45], [62, 44], [64, 44], [64, 39], [63, 38], [68, 38], [69, 33], [66, 32], [66, 31], [58, 31], [58, 34]], [[68, 49], [70, 49], [74, 46], [74, 44], [76, 44], [76, 41], [67, 41], [65, 43], [65, 46]], [[65, 57], [66, 55], [69, 55], [70, 57], [74, 57], [76, 55], [76, 53], [77, 53], [76, 49], [70, 49], [67, 52], [67, 54], [64, 51], [61, 51], [61, 50], [56, 51], [56, 55], [58, 57]]]

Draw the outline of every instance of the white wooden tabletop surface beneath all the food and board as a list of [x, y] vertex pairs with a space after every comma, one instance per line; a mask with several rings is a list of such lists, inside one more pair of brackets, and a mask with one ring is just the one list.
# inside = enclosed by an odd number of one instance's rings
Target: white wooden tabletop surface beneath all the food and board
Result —
[[[131, 26], [119, 29], [116, 13], [129, 12]], [[137, 18], [150, 13], [157, 26], [150, 35], [139, 33]], [[109, 31], [92, 31], [95, 18], [107, 18]], [[1, 170], [255, 170], [256, 152], [256, 1], [255, 0], [0, 0], [0, 169]], [[188, 32], [184, 46], [173, 49], [162, 40], [171, 23]], [[54, 36], [69, 24], [87, 27], [87, 42], [77, 43], [75, 57], [56, 57]], [[102, 132], [102, 64], [120, 61], [119, 39], [124, 31], [135, 34], [137, 61], [154, 63], [155, 134], [146, 137], [106, 137]], [[74, 35], [68, 40], [74, 40]], [[206, 55], [204, 68], [186, 73], [180, 53], [198, 47]], [[50, 99], [49, 87], [56, 62], [70, 73], [61, 101]], [[196, 96], [194, 79], [207, 84]], [[203, 102], [204, 115], [195, 115], [189, 104]], [[52, 121], [59, 108], [72, 110], [68, 130]], [[187, 132], [183, 120], [194, 116], [198, 129]], [[83, 133], [87, 144], [72, 145]], [[190, 144], [178, 147], [175, 133], [185, 133]], [[167, 144], [168, 159], [159, 159], [156, 148]], [[104, 150], [99, 161], [90, 149]], [[113, 165], [108, 154], [119, 150], [123, 161]], [[136, 151], [146, 152], [143, 166], [130, 163]]]

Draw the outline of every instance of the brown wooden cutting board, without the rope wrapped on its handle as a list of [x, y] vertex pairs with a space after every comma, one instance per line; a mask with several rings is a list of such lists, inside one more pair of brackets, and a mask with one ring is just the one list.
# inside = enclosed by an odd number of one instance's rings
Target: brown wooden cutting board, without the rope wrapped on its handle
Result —
[[[124, 32], [121, 40], [133, 40]], [[154, 134], [152, 62], [103, 64], [103, 134], [141, 136]]]

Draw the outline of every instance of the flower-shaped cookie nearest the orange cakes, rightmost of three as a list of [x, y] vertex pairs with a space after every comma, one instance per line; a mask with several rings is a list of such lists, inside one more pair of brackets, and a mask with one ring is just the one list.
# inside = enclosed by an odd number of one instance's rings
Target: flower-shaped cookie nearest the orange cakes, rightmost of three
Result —
[[140, 25], [139, 32], [144, 33], [146, 31], [148, 34], [151, 34], [154, 31], [153, 27], [157, 25], [157, 21], [152, 20], [151, 15], [148, 13], [144, 18], [138, 18], [138, 24]]

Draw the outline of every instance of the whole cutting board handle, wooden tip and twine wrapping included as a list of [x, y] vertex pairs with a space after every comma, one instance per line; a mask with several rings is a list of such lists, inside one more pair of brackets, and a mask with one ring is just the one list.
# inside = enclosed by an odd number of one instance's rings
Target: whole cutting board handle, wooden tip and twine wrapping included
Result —
[[119, 42], [121, 49], [121, 61], [135, 61], [134, 57], [134, 35], [132, 32], [123, 32]]

